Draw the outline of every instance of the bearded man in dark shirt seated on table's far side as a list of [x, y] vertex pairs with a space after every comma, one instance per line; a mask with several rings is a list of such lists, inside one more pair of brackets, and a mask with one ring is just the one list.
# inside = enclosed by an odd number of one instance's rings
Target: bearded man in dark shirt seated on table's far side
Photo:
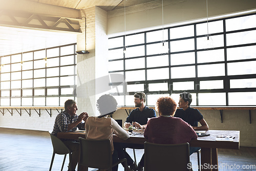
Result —
[[[146, 101], [146, 95], [143, 92], [137, 92], [134, 94], [134, 103], [136, 109], [134, 109], [130, 115], [126, 118], [126, 121], [124, 122], [124, 127], [128, 128], [129, 126], [133, 125], [136, 128], [144, 129], [146, 127], [146, 123], [148, 118], [156, 117], [156, 111], [154, 109], [147, 108], [145, 105]], [[144, 144], [123, 144], [123, 147], [129, 147], [129, 148], [138, 148], [143, 149]], [[134, 163], [133, 159], [129, 156], [129, 154], [125, 153], [125, 158], [127, 159], [127, 165], [130, 165], [130, 169], [132, 170], [138, 170], [143, 171], [144, 166], [144, 154], [137, 166], [136, 163]]]

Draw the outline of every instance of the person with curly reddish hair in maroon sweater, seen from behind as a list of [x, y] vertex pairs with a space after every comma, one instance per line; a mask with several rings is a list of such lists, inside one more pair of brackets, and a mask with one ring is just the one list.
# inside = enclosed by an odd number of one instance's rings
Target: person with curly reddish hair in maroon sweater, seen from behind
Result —
[[160, 97], [156, 110], [159, 117], [148, 120], [144, 137], [151, 143], [180, 144], [197, 139], [193, 128], [180, 118], [173, 117], [177, 104], [171, 97]]

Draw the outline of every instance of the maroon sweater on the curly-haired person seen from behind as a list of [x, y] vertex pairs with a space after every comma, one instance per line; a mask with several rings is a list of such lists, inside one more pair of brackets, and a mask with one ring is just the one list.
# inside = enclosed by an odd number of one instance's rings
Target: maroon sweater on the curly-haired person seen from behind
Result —
[[159, 116], [147, 122], [144, 137], [151, 143], [180, 144], [197, 139], [197, 134], [180, 118]]

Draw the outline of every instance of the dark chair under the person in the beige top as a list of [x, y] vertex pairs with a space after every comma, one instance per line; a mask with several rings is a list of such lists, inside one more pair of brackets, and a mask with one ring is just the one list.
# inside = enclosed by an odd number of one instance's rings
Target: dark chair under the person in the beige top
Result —
[[124, 163], [124, 170], [127, 169], [127, 160], [120, 159], [112, 164], [111, 144], [109, 139], [92, 140], [79, 137], [80, 142], [80, 158], [78, 162], [78, 170], [80, 166], [91, 168], [108, 169]]

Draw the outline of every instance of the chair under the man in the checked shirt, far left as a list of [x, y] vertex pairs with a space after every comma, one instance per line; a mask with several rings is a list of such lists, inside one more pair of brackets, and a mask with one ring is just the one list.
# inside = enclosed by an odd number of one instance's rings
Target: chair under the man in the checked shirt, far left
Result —
[[69, 168], [72, 168], [72, 157], [71, 157], [72, 151], [59, 138], [52, 135], [50, 131], [49, 131], [49, 134], [50, 134], [50, 137], [51, 137], [51, 140], [52, 140], [52, 146], [53, 146], [52, 161], [51, 161], [49, 171], [51, 171], [51, 169], [52, 169], [52, 164], [53, 164], [55, 154], [65, 155], [64, 159], [63, 159], [63, 162], [62, 162], [61, 171], [63, 169], [67, 154], [69, 154], [69, 161], [70, 161], [69, 162]]

